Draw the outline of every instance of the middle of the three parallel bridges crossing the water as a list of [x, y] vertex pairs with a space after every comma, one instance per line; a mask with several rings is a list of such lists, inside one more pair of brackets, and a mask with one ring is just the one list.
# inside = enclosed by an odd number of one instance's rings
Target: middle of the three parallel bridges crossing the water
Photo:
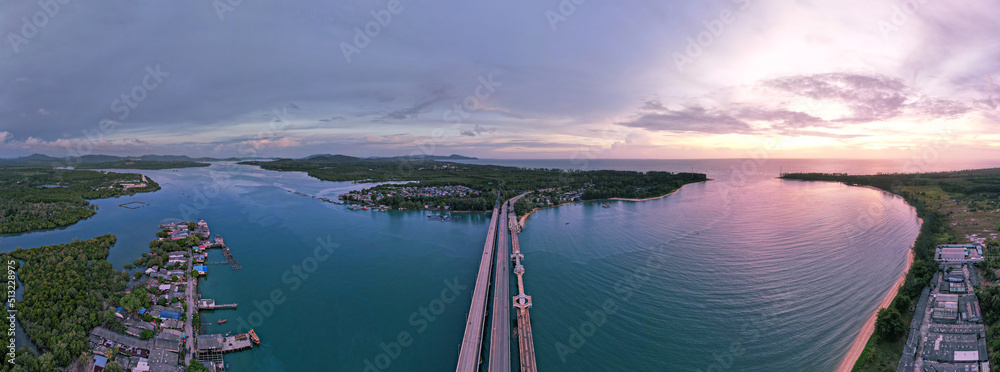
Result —
[[507, 202], [500, 208], [500, 235], [497, 237], [496, 275], [493, 288], [493, 329], [490, 332], [489, 372], [510, 372], [510, 263], [507, 261], [509, 226]]

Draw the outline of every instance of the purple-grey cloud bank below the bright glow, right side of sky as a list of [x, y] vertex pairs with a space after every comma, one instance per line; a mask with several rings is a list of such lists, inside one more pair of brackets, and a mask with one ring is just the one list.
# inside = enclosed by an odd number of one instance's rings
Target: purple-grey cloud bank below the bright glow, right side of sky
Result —
[[[769, 79], [755, 84], [749, 92], [745, 87], [727, 87], [701, 101], [714, 104], [687, 103], [669, 108], [659, 99], [646, 99], [632, 119], [618, 124], [675, 133], [856, 138], [864, 135], [840, 130], [893, 119], [955, 119], [974, 109], [972, 104], [929, 97], [899, 79], [850, 73]], [[803, 101], [804, 105], [796, 105]], [[819, 111], [815, 106], [831, 105], [843, 110], [831, 117], [812, 113]]]

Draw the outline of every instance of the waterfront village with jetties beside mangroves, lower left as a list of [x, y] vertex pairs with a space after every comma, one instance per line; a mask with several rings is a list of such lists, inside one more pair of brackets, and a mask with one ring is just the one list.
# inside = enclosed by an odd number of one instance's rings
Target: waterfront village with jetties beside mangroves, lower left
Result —
[[[215, 236], [204, 220], [160, 225], [159, 242], [194, 242], [180, 251], [168, 252], [164, 267], [151, 266], [145, 280], [132, 292], [145, 289], [144, 306], [137, 311], [116, 308], [115, 316], [125, 325], [119, 333], [94, 328], [89, 335], [93, 354], [88, 371], [103, 372], [109, 362], [132, 372], [179, 372], [200, 362], [209, 371], [225, 371], [223, 354], [247, 350], [260, 343], [254, 330], [241, 334], [199, 335], [201, 311], [235, 309], [237, 304], [220, 304], [198, 294], [198, 278], [208, 275], [206, 262], [212, 249], [221, 249], [224, 261], [240, 268], [225, 240]], [[219, 320], [224, 322], [225, 320]]]

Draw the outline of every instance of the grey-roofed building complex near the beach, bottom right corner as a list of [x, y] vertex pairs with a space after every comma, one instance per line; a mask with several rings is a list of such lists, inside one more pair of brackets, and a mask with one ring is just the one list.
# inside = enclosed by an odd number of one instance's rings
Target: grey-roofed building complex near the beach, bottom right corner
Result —
[[990, 371], [973, 265], [983, 258], [980, 244], [937, 246], [939, 270], [914, 308], [896, 371]]

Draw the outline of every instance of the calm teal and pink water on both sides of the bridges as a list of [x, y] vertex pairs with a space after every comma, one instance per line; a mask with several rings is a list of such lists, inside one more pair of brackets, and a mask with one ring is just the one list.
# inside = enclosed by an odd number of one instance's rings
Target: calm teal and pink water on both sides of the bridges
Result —
[[[774, 178], [779, 170], [894, 172], [906, 169], [901, 161], [469, 162], [693, 170], [714, 179], [663, 199], [580, 203], [528, 218], [520, 240], [543, 371], [832, 370], [919, 230], [912, 208], [893, 195]], [[245, 325], [262, 338], [226, 356], [232, 370], [455, 368], [488, 215], [433, 222], [420, 211], [349, 211], [294, 192], [335, 198], [357, 185], [249, 166], [139, 172], [163, 190], [97, 200], [90, 219], [3, 235], [0, 248], [113, 233], [108, 260], [120, 268], [148, 251], [159, 224], [203, 218], [243, 265], [210, 265], [202, 295], [239, 309], [204, 312], [203, 333]], [[130, 201], [149, 206], [118, 206]], [[220, 318], [229, 321], [216, 325]], [[401, 334], [412, 341], [397, 347]]]

